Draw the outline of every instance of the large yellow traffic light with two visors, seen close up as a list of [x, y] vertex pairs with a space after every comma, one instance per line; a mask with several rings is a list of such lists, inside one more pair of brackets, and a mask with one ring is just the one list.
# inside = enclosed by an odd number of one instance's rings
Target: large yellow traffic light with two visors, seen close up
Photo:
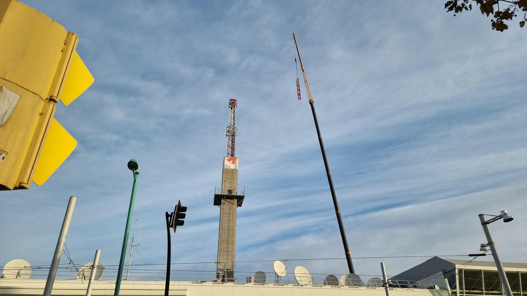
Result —
[[75, 148], [53, 118], [93, 77], [77, 35], [16, 0], [0, 0], [0, 190], [42, 185]]

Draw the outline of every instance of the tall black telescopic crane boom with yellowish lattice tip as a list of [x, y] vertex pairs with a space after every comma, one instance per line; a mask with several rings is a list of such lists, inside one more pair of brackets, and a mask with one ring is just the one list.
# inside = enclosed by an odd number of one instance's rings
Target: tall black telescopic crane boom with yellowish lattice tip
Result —
[[326, 158], [326, 150], [324, 149], [324, 142], [322, 141], [322, 136], [320, 135], [320, 128], [318, 127], [317, 114], [315, 112], [315, 101], [313, 100], [313, 96], [311, 96], [311, 89], [309, 88], [309, 83], [307, 82], [306, 70], [304, 69], [304, 64], [302, 64], [302, 58], [300, 57], [300, 50], [298, 49], [298, 43], [296, 40], [295, 33], [293, 33], [293, 39], [295, 39], [298, 59], [300, 60], [300, 68], [302, 69], [302, 74], [304, 75], [304, 83], [306, 84], [306, 92], [307, 92], [307, 97], [309, 99], [309, 105], [311, 105], [311, 113], [313, 113], [313, 120], [315, 120], [315, 127], [317, 129], [318, 142], [320, 144], [320, 151], [322, 152], [322, 158], [324, 159], [324, 166], [326, 167], [326, 175], [328, 177], [329, 190], [331, 191], [331, 198], [333, 198], [333, 205], [335, 206], [335, 214], [337, 215], [338, 228], [340, 229], [340, 236], [342, 237], [342, 244], [344, 245], [344, 254], [346, 255], [346, 261], [348, 262], [349, 272], [355, 273], [353, 269], [352, 256], [349, 253], [348, 240], [346, 239], [346, 232], [344, 231], [344, 224], [342, 223], [342, 217], [340, 216], [340, 210], [338, 208], [337, 195], [335, 193], [335, 188], [333, 187], [333, 179], [331, 178], [331, 172], [329, 172], [329, 165], [328, 165], [328, 160]]

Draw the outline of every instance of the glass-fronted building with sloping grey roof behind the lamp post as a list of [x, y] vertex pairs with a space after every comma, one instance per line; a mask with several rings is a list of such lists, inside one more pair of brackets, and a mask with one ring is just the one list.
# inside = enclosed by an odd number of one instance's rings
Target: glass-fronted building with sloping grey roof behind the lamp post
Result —
[[[527, 296], [527, 263], [502, 262], [513, 295]], [[455, 296], [505, 295], [494, 261], [433, 257], [391, 278], [395, 287], [448, 290]]]

